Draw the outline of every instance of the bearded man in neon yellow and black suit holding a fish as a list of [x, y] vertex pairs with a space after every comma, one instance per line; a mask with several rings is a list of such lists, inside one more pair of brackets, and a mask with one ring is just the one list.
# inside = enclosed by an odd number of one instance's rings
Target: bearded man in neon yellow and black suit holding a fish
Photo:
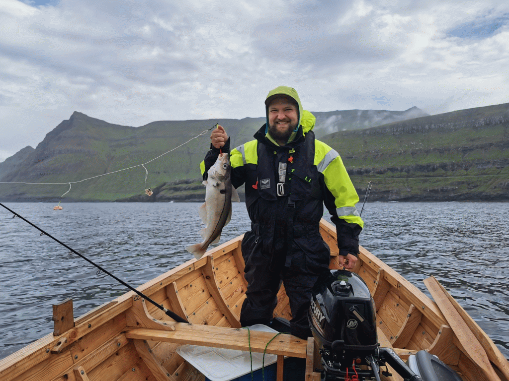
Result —
[[231, 152], [224, 128], [212, 131], [202, 174], [206, 179], [222, 150], [230, 152], [232, 185], [245, 183], [251, 230], [242, 240], [248, 285], [241, 324], [270, 325], [282, 281], [290, 299], [291, 333], [306, 338], [311, 292], [330, 259], [319, 231], [323, 204], [336, 225], [340, 265], [353, 269], [363, 226], [355, 208], [359, 198], [340, 155], [315, 139], [315, 117], [302, 109], [294, 88], [273, 89], [265, 106], [267, 122], [255, 140]]

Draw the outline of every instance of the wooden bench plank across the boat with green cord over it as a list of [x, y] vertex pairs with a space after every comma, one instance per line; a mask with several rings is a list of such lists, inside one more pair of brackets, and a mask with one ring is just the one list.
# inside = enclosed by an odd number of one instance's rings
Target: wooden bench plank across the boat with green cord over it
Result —
[[[175, 331], [133, 328], [126, 332], [126, 337], [249, 351], [248, 331], [245, 329], [186, 323], [176, 323], [175, 327]], [[263, 353], [274, 334], [272, 332], [251, 330], [249, 336], [251, 351]], [[279, 334], [277, 340], [272, 340], [268, 344], [266, 353], [305, 358], [306, 342], [292, 335]]]

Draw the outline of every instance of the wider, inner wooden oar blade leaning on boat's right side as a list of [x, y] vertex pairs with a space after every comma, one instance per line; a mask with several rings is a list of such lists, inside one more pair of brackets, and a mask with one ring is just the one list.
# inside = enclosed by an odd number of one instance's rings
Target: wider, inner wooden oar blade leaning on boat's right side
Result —
[[424, 283], [433, 296], [433, 299], [435, 299], [440, 311], [445, 316], [445, 320], [447, 320], [450, 328], [453, 329], [458, 340], [463, 345], [468, 357], [479, 365], [487, 379], [490, 381], [501, 381], [500, 377], [498, 377], [497, 373], [495, 373], [495, 370], [491, 366], [490, 360], [488, 359], [483, 346], [480, 344], [479, 340], [477, 340], [470, 328], [468, 328], [468, 325], [465, 323], [454, 304], [447, 297], [447, 291], [441, 286], [434, 276], [425, 279]]

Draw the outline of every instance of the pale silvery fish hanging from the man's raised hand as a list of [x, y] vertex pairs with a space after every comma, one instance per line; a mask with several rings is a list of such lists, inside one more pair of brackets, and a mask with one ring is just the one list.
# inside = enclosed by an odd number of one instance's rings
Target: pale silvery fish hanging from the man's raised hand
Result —
[[210, 244], [219, 242], [222, 229], [232, 218], [232, 200], [240, 202], [237, 190], [232, 186], [232, 169], [228, 153], [222, 152], [217, 156], [203, 184], [206, 186], [205, 202], [198, 210], [205, 224], [205, 228], [200, 230], [203, 241], [186, 247], [196, 259], [204, 256]]

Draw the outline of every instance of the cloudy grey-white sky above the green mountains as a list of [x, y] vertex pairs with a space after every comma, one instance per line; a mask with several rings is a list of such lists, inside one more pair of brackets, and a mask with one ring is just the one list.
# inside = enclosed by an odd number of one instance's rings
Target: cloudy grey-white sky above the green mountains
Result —
[[509, 102], [509, 2], [0, 0], [0, 161], [74, 111], [124, 125]]

